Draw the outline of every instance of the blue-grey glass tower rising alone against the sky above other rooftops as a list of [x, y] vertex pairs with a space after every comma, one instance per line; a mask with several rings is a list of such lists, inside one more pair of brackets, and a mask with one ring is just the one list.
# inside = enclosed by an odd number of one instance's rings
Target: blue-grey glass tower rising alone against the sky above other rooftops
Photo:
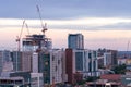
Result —
[[71, 49], [84, 49], [84, 37], [82, 34], [69, 34], [68, 47]]

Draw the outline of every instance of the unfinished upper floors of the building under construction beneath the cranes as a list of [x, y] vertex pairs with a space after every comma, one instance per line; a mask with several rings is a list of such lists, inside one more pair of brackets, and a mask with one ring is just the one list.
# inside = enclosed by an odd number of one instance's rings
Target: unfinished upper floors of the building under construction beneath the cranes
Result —
[[52, 48], [52, 41], [50, 38], [46, 38], [45, 35], [28, 35], [23, 38], [23, 51], [39, 51], [49, 50]]

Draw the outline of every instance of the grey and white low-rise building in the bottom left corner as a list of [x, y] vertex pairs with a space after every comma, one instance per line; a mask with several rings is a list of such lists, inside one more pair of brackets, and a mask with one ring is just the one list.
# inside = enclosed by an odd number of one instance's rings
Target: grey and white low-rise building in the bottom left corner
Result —
[[[43, 87], [44, 86], [43, 73], [2, 72], [2, 76], [0, 80], [2, 82], [0, 85], [7, 83], [9, 86], [11, 85], [10, 87], [15, 87], [15, 86]], [[5, 85], [5, 87], [8, 85]]]

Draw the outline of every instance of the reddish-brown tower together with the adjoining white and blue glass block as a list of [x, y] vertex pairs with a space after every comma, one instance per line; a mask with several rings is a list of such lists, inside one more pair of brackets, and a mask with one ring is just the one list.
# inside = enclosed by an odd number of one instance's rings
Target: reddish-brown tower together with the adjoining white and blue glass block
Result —
[[70, 84], [75, 82], [75, 75], [96, 76], [98, 72], [97, 51], [66, 49], [66, 71]]

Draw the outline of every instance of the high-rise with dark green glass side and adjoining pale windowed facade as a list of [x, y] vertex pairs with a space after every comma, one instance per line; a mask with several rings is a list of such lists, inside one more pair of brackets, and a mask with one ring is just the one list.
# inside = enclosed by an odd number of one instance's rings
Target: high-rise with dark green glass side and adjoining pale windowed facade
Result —
[[38, 72], [44, 74], [44, 83], [62, 83], [62, 59], [63, 51], [52, 49], [39, 53]]

